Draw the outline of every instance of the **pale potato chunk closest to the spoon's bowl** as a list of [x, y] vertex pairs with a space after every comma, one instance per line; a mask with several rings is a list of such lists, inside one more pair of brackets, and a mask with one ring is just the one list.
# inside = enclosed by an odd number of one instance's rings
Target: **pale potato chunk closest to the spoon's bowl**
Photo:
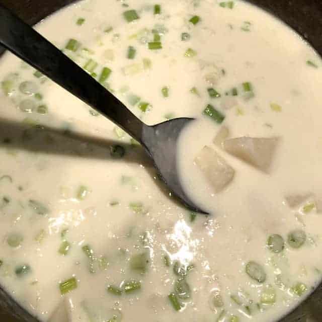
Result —
[[211, 183], [214, 191], [222, 191], [233, 179], [235, 171], [212, 148], [205, 146], [195, 157], [195, 163]]

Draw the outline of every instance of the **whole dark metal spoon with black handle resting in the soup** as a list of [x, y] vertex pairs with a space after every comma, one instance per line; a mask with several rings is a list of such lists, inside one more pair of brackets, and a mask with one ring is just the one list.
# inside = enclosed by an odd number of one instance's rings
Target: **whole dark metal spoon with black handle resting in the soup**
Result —
[[140, 142], [170, 191], [191, 210], [207, 214], [187, 196], [177, 169], [178, 137], [193, 119], [178, 118], [153, 126], [144, 124], [91, 75], [2, 6], [0, 43]]

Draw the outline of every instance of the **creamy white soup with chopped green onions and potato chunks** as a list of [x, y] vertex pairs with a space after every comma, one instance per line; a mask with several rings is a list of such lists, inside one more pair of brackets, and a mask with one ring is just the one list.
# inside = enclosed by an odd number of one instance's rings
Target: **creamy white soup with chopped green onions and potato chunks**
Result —
[[147, 124], [196, 120], [185, 209], [140, 145], [6, 53], [0, 283], [50, 322], [276, 321], [321, 279], [322, 63], [241, 1], [85, 0], [37, 30]]

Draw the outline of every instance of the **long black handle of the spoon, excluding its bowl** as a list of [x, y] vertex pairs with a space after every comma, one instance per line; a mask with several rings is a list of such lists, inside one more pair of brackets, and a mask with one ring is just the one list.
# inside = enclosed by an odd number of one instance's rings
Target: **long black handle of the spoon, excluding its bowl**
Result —
[[141, 141], [142, 129], [147, 125], [90, 74], [1, 5], [0, 43]]

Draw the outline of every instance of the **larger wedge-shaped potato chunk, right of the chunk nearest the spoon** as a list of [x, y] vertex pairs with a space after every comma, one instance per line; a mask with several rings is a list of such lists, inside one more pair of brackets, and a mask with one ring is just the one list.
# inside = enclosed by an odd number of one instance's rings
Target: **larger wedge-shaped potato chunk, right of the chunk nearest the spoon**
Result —
[[268, 172], [271, 166], [277, 137], [237, 137], [223, 142], [224, 149], [261, 171]]

